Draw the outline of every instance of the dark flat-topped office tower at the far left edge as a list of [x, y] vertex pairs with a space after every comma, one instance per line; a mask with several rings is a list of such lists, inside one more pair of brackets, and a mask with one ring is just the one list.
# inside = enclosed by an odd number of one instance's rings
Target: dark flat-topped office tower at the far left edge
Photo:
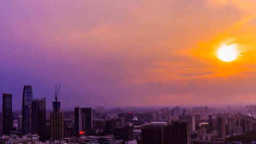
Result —
[[9, 134], [13, 128], [12, 123], [12, 94], [3, 94], [3, 134]]

